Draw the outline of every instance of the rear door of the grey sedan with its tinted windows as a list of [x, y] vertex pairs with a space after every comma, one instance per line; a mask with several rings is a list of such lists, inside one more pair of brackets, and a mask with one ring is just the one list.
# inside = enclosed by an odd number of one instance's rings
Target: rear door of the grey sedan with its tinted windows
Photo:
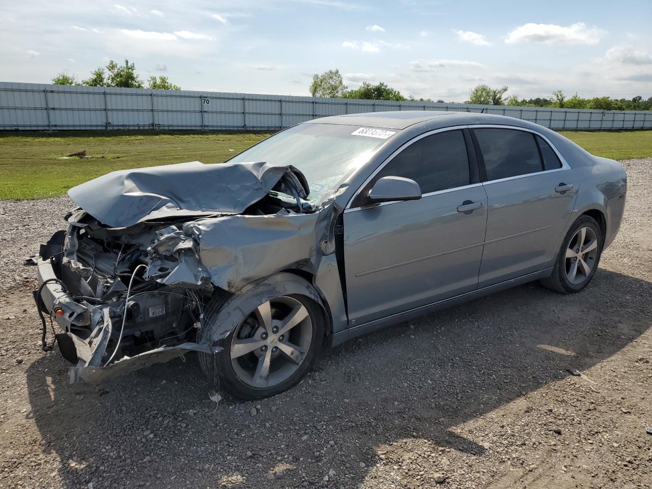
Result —
[[549, 141], [517, 128], [473, 128], [488, 218], [479, 288], [552, 266], [578, 182]]

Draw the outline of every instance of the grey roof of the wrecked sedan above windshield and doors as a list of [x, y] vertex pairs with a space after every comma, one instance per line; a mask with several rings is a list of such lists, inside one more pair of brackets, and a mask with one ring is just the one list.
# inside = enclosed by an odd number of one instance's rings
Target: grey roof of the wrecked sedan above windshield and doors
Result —
[[[467, 124], [503, 124], [529, 127], [532, 123], [505, 115], [478, 112], [445, 112], [436, 110], [396, 110], [331, 115], [306, 121], [304, 124], [339, 124], [387, 129], [405, 129], [418, 123], [432, 122], [433, 126], [446, 127]], [[539, 126], [541, 127], [541, 126]]]

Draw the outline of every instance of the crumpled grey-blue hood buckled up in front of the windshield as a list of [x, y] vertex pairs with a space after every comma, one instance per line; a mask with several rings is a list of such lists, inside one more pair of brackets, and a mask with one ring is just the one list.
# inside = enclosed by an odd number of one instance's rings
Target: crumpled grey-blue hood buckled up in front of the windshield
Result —
[[192, 161], [112, 171], [68, 195], [106, 226], [125, 228], [145, 220], [241, 214], [270, 190], [301, 198], [310, 193], [303, 173], [291, 165]]

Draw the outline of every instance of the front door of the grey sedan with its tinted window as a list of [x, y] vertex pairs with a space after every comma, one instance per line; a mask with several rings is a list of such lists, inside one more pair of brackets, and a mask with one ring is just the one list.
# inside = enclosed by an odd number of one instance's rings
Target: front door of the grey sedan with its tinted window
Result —
[[[387, 176], [415, 180], [421, 200], [369, 207], [368, 190]], [[486, 205], [468, 132], [424, 135], [397, 151], [344, 213], [350, 325], [474, 290]]]

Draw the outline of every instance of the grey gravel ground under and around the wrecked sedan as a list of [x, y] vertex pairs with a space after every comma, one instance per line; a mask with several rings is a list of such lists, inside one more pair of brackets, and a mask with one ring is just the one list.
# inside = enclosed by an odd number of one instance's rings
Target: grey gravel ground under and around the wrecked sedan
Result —
[[527, 284], [325, 351], [216, 408], [194, 359], [99, 387], [39, 349], [33, 268], [67, 198], [0, 202], [1, 488], [652, 485], [652, 159], [582, 293]]

